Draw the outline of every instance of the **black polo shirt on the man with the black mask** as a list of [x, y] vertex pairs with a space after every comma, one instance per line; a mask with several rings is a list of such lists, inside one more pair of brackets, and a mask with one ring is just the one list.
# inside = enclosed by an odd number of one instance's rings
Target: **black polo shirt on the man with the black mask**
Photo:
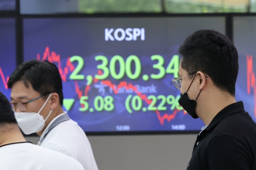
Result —
[[187, 170], [256, 170], [256, 123], [242, 101], [222, 109], [198, 135]]

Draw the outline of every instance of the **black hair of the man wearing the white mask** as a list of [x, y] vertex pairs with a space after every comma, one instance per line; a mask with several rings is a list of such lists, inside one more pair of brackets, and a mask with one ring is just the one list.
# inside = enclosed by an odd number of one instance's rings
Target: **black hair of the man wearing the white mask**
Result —
[[26, 61], [12, 72], [7, 83], [8, 88], [12, 88], [12, 85], [18, 81], [22, 81], [27, 88], [30, 82], [32, 88], [41, 95], [57, 93], [60, 105], [63, 105], [62, 81], [55, 64], [47, 60]]

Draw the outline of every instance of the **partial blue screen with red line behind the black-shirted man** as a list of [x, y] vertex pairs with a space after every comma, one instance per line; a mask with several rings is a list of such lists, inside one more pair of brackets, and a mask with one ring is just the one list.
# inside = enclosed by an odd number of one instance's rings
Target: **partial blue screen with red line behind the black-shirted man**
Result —
[[234, 45], [238, 51], [239, 73], [236, 100], [256, 121], [256, 17], [234, 17]]

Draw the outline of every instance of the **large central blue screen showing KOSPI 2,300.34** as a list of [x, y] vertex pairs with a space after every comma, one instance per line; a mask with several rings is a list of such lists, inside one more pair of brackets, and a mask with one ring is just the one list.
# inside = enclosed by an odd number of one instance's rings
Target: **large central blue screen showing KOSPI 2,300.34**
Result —
[[24, 18], [24, 61], [59, 69], [64, 110], [85, 132], [199, 131], [180, 107], [178, 48], [224, 17]]

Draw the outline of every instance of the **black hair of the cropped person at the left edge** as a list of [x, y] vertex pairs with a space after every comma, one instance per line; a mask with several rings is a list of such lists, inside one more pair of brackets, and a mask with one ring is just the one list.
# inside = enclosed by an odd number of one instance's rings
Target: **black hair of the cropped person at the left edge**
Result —
[[15, 123], [17, 121], [12, 111], [12, 107], [7, 98], [0, 92], [0, 125]]

